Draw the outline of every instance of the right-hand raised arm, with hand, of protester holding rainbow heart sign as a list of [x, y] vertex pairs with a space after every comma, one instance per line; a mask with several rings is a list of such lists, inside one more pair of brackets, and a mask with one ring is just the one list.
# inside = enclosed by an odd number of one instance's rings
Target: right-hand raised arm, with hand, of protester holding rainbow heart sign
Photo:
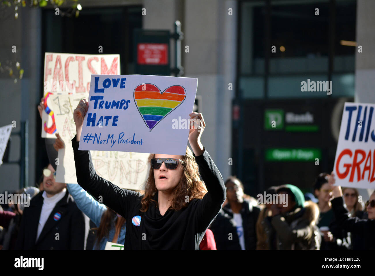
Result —
[[190, 122], [189, 143], [199, 167], [199, 174], [208, 191], [198, 202], [197, 207], [197, 219], [200, 228], [198, 231], [204, 231], [219, 213], [226, 198], [226, 189], [222, 175], [201, 143], [201, 135], [205, 127], [202, 114], [191, 113]]

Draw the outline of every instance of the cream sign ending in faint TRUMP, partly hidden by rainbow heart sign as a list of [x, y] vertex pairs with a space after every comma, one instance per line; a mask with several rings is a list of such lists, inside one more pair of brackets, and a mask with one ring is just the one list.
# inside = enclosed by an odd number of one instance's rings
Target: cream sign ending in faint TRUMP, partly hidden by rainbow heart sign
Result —
[[[61, 105], [77, 107], [80, 96], [67, 93], [54, 94]], [[52, 101], [51, 108], [58, 110], [58, 102]], [[71, 139], [75, 136], [73, 111], [66, 108], [63, 114], [56, 114], [57, 132], [65, 143], [65, 148], [58, 151], [56, 163], [56, 181], [60, 183], [77, 183], [74, 153]], [[99, 176], [124, 189], [141, 190], [147, 178], [150, 164], [147, 153], [118, 151], [91, 151], [92, 162]]]

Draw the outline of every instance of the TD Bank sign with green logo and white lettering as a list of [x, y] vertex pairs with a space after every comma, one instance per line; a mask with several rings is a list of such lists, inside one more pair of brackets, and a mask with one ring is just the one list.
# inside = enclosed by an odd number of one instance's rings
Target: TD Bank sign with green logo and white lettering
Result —
[[284, 112], [282, 109], [266, 109], [264, 111], [265, 130], [283, 130], [288, 132], [316, 132], [319, 127], [314, 124], [314, 114]]

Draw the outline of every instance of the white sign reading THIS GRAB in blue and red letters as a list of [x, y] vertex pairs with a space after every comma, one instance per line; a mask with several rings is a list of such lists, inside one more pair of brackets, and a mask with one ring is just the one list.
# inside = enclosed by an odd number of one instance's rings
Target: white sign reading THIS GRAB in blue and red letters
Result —
[[335, 165], [336, 185], [375, 188], [375, 104], [346, 102]]

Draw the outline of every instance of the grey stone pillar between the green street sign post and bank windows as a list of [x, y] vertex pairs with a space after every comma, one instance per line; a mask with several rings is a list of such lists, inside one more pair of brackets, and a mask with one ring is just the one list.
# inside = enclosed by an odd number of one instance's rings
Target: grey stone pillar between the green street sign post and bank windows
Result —
[[[228, 9], [233, 15], [228, 15]], [[231, 100], [236, 83], [237, 1], [185, 2], [185, 77], [198, 78], [206, 129], [202, 143], [223, 177], [231, 173]], [[183, 48], [184, 49], [184, 48]], [[233, 90], [228, 90], [228, 83]]]

